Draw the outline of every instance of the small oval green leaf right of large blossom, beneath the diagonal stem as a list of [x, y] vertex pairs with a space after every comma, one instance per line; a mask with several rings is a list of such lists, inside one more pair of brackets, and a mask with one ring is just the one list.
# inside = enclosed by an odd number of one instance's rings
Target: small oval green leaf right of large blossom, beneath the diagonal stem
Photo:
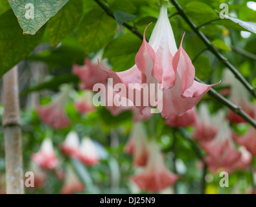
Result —
[[213, 69], [211, 69], [209, 58], [199, 56], [193, 64], [196, 70], [196, 77], [201, 80], [207, 80], [211, 76]]

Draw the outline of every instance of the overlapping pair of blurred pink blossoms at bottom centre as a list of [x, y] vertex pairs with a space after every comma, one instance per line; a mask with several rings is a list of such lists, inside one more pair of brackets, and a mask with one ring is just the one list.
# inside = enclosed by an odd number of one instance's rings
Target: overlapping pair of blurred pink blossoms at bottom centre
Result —
[[166, 168], [157, 143], [146, 139], [143, 125], [135, 124], [125, 151], [134, 155], [134, 166], [143, 167], [140, 173], [131, 177], [131, 180], [141, 190], [156, 192], [172, 186], [178, 175]]

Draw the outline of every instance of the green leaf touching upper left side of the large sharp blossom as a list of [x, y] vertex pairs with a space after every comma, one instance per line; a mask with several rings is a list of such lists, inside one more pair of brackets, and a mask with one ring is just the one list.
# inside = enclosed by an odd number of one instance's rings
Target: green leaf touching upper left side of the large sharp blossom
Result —
[[113, 71], [125, 71], [135, 64], [141, 42], [134, 34], [120, 36], [107, 45], [103, 58], [110, 58]]

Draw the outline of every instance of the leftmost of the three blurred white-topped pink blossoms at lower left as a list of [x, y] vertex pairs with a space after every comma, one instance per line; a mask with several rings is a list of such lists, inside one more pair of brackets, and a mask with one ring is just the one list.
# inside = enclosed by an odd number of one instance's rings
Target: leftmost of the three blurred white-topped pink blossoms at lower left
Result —
[[40, 150], [38, 153], [32, 154], [31, 158], [43, 169], [54, 169], [58, 165], [52, 141], [49, 138], [45, 138], [45, 140], [43, 140]]

